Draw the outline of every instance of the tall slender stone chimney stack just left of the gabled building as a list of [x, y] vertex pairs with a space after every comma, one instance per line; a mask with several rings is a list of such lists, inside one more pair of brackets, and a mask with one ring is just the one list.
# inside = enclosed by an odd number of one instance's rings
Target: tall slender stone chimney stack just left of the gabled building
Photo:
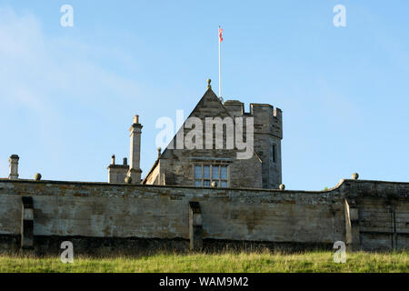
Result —
[[140, 184], [142, 170], [140, 168], [141, 161], [141, 133], [142, 125], [139, 123], [139, 115], [134, 116], [134, 124], [129, 131], [131, 132], [131, 146], [129, 155], [129, 171], [128, 175], [132, 178], [133, 184]]

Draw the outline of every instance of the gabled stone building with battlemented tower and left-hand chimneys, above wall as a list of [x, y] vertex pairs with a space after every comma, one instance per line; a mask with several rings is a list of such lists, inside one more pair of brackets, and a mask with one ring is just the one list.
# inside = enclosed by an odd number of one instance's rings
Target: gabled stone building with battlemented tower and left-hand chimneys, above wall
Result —
[[143, 181], [142, 127], [135, 115], [129, 129], [129, 168], [115, 165], [113, 156], [109, 183], [264, 189], [278, 189], [282, 184], [283, 112], [272, 105], [250, 104], [250, 111], [244, 112], [240, 101], [223, 103], [208, 80], [205, 95], [165, 150], [158, 151]]

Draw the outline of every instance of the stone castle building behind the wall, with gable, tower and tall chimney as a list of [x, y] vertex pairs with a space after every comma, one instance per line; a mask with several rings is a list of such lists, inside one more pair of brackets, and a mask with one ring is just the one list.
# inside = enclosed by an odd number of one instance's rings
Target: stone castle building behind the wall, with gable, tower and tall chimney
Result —
[[[210, 82], [209, 82], [210, 83]], [[213, 182], [220, 187], [247, 187], [278, 189], [282, 183], [281, 140], [283, 138], [282, 111], [267, 104], [250, 104], [250, 112], [244, 112], [244, 104], [229, 100], [224, 103], [214, 94], [210, 84], [205, 95], [195, 106], [189, 118], [196, 117], [205, 124], [206, 118], [242, 117], [245, 121], [254, 118], [254, 146], [250, 158], [237, 159], [237, 148], [217, 149], [186, 149], [175, 148], [178, 135], [187, 135], [182, 132], [186, 124], [179, 129], [174, 139], [165, 148], [159, 151], [154, 166], [149, 170], [144, 185], [168, 186], [211, 186]], [[224, 122], [223, 145], [226, 145], [227, 125]], [[130, 165], [115, 165], [115, 156], [108, 166], [108, 183], [125, 183], [125, 177], [130, 176], [134, 184], [141, 181], [140, 150], [142, 125], [139, 116], [134, 118], [130, 128]], [[217, 129], [216, 129], [217, 130]], [[223, 131], [223, 129], [222, 129]], [[205, 128], [201, 130], [200, 139], [205, 141]], [[214, 137], [213, 137], [214, 138]], [[254, 154], [254, 155], [253, 155]]]

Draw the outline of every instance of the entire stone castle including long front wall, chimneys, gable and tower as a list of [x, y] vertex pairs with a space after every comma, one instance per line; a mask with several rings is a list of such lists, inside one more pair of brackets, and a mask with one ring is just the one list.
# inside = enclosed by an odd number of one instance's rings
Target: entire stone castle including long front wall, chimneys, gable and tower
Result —
[[[392, 250], [409, 247], [409, 183], [342, 179], [327, 191], [285, 190], [282, 184], [282, 111], [239, 101], [222, 102], [208, 85], [189, 115], [224, 122], [211, 134], [196, 128], [189, 140], [189, 118], [141, 179], [143, 126], [135, 116], [130, 128], [130, 156], [108, 166], [108, 183], [50, 181], [35, 175], [21, 179], [19, 156], [10, 156], [8, 178], [0, 178], [0, 252], [61, 252], [65, 241], [75, 253], [122, 254], [143, 250], [220, 249], [225, 247]], [[243, 119], [244, 140], [227, 145]], [[235, 119], [235, 118], [239, 119]], [[227, 119], [226, 119], [227, 118]], [[242, 119], [240, 119], [242, 118]], [[254, 125], [253, 136], [248, 129]], [[225, 128], [225, 130], [220, 130]], [[222, 133], [222, 134], [220, 134]], [[234, 138], [237, 132], [234, 131]], [[207, 147], [209, 146], [209, 147]], [[243, 151], [249, 158], [239, 159]]]

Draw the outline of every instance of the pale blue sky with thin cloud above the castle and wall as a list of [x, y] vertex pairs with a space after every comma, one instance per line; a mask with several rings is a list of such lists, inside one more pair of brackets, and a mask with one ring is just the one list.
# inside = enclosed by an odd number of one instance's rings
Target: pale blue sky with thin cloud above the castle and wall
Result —
[[[62, 27], [62, 5], [74, 27]], [[334, 27], [334, 5], [346, 27]], [[142, 169], [155, 121], [185, 115], [218, 84], [224, 99], [284, 112], [283, 182], [321, 190], [358, 172], [408, 181], [407, 1], [0, 2], [0, 176], [107, 181], [141, 115]]]

